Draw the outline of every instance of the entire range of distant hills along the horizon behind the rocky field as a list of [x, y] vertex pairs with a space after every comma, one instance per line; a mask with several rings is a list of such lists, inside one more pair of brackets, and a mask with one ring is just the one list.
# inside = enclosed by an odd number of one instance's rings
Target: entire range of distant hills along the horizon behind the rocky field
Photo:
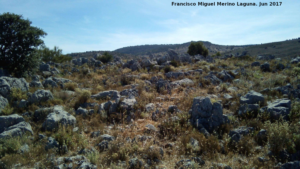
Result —
[[[279, 58], [292, 58], [300, 55], [300, 38], [271, 42], [261, 45], [216, 45], [208, 41], [202, 41], [206, 48], [208, 48], [209, 55], [216, 52], [221, 54], [236, 54], [248, 51], [251, 56], [260, 54], [274, 54]], [[133, 59], [137, 56], [149, 56], [149, 54], [166, 54], [168, 49], [174, 49], [177, 53], [187, 52], [187, 48], [191, 42], [183, 44], [167, 44], [167, 45], [139, 45], [129, 46], [109, 51], [113, 56], [118, 56], [124, 59]], [[94, 57], [97, 54], [103, 54], [105, 51], [86, 51], [81, 53], [71, 53], [70, 56], [77, 57]]]

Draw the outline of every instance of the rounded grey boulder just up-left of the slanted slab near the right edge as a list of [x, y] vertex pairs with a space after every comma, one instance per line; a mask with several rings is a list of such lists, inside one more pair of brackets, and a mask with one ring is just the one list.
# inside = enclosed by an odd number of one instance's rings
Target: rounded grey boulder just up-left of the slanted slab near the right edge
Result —
[[247, 94], [242, 96], [240, 98], [240, 104], [263, 104], [265, 101], [265, 98], [262, 96], [262, 94], [256, 92], [256, 91], [248, 91]]

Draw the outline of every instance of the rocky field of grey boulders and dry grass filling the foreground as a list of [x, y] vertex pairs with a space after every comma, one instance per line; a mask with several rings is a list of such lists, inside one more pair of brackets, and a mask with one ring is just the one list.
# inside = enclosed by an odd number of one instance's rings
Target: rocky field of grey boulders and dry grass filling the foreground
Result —
[[300, 57], [151, 54], [0, 77], [0, 168], [299, 168]]

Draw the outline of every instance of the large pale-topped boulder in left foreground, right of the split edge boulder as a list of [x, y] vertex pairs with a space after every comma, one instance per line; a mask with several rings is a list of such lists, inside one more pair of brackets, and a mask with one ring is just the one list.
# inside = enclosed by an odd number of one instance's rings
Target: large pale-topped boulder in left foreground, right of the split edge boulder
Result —
[[62, 106], [56, 106], [46, 117], [46, 121], [43, 123], [42, 127], [46, 131], [52, 131], [58, 128], [59, 125], [62, 126], [75, 126], [76, 118], [70, 115], [68, 112], [64, 111]]

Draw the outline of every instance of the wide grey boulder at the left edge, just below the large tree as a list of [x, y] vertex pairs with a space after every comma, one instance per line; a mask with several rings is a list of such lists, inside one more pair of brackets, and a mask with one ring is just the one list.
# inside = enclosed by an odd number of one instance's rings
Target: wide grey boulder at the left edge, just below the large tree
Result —
[[29, 83], [24, 78], [0, 77], [0, 95], [7, 98], [12, 88], [21, 89], [21, 91], [29, 90]]

